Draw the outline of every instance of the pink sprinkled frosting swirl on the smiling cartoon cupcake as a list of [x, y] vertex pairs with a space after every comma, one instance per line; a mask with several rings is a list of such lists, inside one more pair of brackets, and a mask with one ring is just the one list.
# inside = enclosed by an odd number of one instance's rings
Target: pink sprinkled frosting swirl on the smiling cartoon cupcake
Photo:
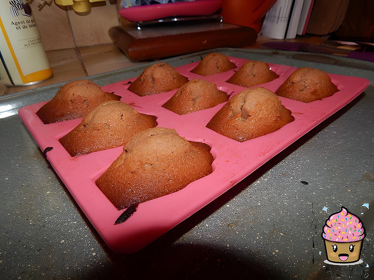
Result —
[[322, 237], [332, 242], [355, 242], [365, 238], [365, 228], [358, 217], [342, 207], [328, 218]]

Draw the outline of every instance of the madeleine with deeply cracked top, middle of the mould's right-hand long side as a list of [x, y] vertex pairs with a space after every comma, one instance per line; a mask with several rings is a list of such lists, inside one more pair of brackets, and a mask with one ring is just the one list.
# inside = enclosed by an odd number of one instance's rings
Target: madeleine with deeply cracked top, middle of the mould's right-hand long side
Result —
[[272, 133], [294, 121], [272, 91], [259, 87], [233, 96], [206, 127], [239, 142]]

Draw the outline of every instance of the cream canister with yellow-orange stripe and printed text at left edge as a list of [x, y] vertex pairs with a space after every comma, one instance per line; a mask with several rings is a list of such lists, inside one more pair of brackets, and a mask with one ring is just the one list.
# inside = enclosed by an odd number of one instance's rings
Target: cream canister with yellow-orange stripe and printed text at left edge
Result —
[[52, 77], [26, 0], [0, 0], [0, 59], [0, 78], [6, 85], [30, 85]]

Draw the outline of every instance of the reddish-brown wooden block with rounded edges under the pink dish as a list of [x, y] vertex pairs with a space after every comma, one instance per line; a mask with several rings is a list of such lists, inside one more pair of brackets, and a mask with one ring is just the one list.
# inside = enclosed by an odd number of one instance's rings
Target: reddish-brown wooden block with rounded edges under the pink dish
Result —
[[200, 24], [147, 25], [136, 24], [109, 29], [109, 36], [133, 61], [164, 58], [218, 47], [245, 47], [257, 38], [257, 32], [223, 22]]

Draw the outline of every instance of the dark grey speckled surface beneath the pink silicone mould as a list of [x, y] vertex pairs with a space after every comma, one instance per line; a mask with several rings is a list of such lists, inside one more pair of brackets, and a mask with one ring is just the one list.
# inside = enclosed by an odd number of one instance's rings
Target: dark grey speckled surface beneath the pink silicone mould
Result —
[[[248, 58], [271, 55], [273, 63], [362, 76], [372, 84], [224, 195], [131, 255], [107, 248], [19, 116], [1, 119], [4, 279], [370, 279], [374, 215], [362, 205], [373, 203], [373, 74], [292, 60], [293, 53], [285, 53], [249, 52]], [[45, 99], [53, 95], [42, 93]], [[359, 215], [367, 231], [364, 262], [352, 267], [324, 263], [322, 226], [341, 205]]]

